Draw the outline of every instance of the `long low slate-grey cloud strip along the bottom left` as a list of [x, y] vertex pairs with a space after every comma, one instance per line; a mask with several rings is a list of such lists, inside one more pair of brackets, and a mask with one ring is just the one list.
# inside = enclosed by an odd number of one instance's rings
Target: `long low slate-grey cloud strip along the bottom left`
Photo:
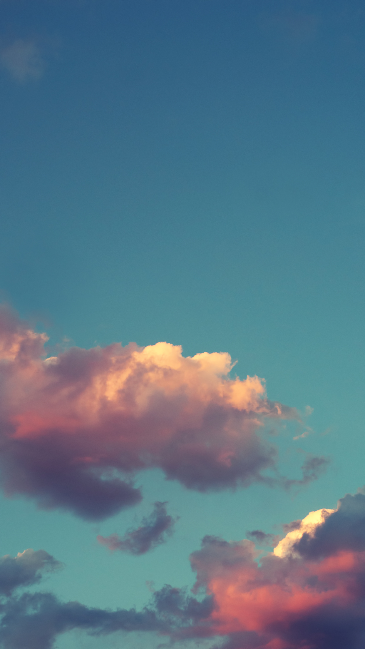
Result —
[[192, 631], [194, 637], [194, 625], [208, 618], [213, 609], [211, 596], [199, 601], [168, 585], [157, 591], [150, 606], [142, 611], [89, 608], [79, 602], [60, 602], [52, 593], [25, 593], [0, 602], [0, 646], [51, 649], [58, 635], [71, 630], [94, 636], [154, 631], [177, 639], [189, 637]]

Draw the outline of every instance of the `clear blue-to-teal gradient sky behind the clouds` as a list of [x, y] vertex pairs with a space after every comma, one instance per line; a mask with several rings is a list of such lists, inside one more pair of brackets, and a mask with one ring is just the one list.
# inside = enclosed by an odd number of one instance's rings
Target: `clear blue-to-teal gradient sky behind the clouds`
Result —
[[[136, 470], [143, 500], [99, 521], [1, 495], [0, 556], [42, 549], [65, 564], [27, 592], [140, 610], [151, 589], [192, 587], [205, 535], [283, 537], [365, 483], [365, 3], [2, 0], [0, 25], [0, 301], [47, 332], [47, 356], [159, 341], [227, 352], [232, 380], [257, 375], [299, 412], [258, 432], [278, 475], [328, 459], [290, 490], [200, 492], [162, 465]], [[131, 555], [97, 541], [138, 528], [155, 502], [177, 519], [165, 543]]]

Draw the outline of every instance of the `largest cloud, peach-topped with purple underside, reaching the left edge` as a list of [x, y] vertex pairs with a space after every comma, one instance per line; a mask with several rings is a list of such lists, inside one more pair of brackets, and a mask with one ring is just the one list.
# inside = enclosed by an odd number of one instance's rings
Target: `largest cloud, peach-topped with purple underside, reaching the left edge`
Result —
[[[257, 376], [230, 378], [231, 357], [181, 347], [73, 347], [44, 359], [45, 334], [0, 309], [0, 472], [6, 495], [100, 520], [140, 502], [136, 471], [158, 467], [188, 489], [306, 484], [270, 478], [277, 451], [260, 430], [297, 418]], [[317, 462], [317, 465], [316, 465]]]

